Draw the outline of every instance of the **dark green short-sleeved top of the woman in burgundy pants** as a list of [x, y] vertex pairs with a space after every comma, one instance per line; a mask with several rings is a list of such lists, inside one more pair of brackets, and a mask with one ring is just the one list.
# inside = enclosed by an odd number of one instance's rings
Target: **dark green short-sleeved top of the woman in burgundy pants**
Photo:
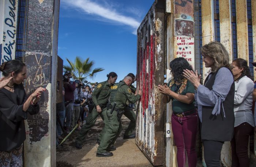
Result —
[[[170, 86], [170, 82], [167, 85], [168, 87]], [[174, 83], [173, 86], [170, 88], [170, 90], [172, 90], [173, 92], [175, 92], [175, 87], [176, 84]], [[176, 90], [177, 92], [177, 90]], [[187, 86], [185, 88], [185, 90], [181, 93], [181, 95], [186, 95], [187, 93], [192, 93], [195, 94], [195, 88], [192, 85], [192, 83], [190, 81], [187, 82]], [[176, 99], [173, 99], [171, 96], [170, 98], [172, 99], [172, 110], [174, 113], [182, 113], [182, 112], [186, 112], [189, 110], [193, 110], [195, 107], [195, 100], [190, 103], [190, 104], [186, 104], [186, 103], [182, 103]]]

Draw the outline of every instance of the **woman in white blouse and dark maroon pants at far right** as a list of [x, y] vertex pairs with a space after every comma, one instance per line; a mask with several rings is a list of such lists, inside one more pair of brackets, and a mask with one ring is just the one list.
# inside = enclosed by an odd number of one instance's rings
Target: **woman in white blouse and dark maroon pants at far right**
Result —
[[234, 137], [231, 140], [232, 167], [249, 167], [249, 136], [253, 133], [252, 92], [254, 83], [247, 61], [241, 58], [231, 63], [235, 80], [234, 97]]

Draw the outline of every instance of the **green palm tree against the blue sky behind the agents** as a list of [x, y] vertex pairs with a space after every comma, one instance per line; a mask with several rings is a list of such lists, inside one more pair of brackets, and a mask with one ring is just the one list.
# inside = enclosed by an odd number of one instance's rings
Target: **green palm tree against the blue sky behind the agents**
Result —
[[70, 60], [68, 60], [68, 65], [63, 65], [64, 71], [70, 71], [71, 75], [74, 79], [79, 79], [81, 81], [84, 81], [87, 79], [87, 77], [90, 77], [90, 79], [93, 79], [97, 72], [103, 71], [103, 68], [94, 68], [94, 61], [89, 60], [89, 57], [84, 60], [81, 57], [77, 56], [75, 59], [75, 62], [72, 63]]

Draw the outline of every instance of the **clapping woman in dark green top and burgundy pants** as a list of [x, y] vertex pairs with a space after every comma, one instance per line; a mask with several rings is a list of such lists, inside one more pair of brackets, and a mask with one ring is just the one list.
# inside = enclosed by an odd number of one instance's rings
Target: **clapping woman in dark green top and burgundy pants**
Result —
[[188, 61], [182, 57], [170, 62], [173, 79], [164, 86], [158, 85], [163, 94], [163, 103], [172, 100], [172, 131], [177, 146], [177, 162], [179, 167], [185, 166], [186, 152], [188, 166], [195, 167], [196, 155], [196, 133], [198, 116], [195, 107], [193, 84], [186, 79], [182, 72], [184, 69], [193, 71]]

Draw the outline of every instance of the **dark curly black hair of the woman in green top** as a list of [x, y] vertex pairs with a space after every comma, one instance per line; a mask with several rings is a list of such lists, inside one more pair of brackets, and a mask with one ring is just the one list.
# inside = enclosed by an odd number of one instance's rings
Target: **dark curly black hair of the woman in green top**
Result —
[[173, 59], [170, 62], [170, 68], [172, 68], [172, 72], [174, 73], [174, 81], [178, 83], [180, 83], [181, 80], [185, 78], [182, 73], [184, 69], [193, 71], [191, 65], [183, 57]]

